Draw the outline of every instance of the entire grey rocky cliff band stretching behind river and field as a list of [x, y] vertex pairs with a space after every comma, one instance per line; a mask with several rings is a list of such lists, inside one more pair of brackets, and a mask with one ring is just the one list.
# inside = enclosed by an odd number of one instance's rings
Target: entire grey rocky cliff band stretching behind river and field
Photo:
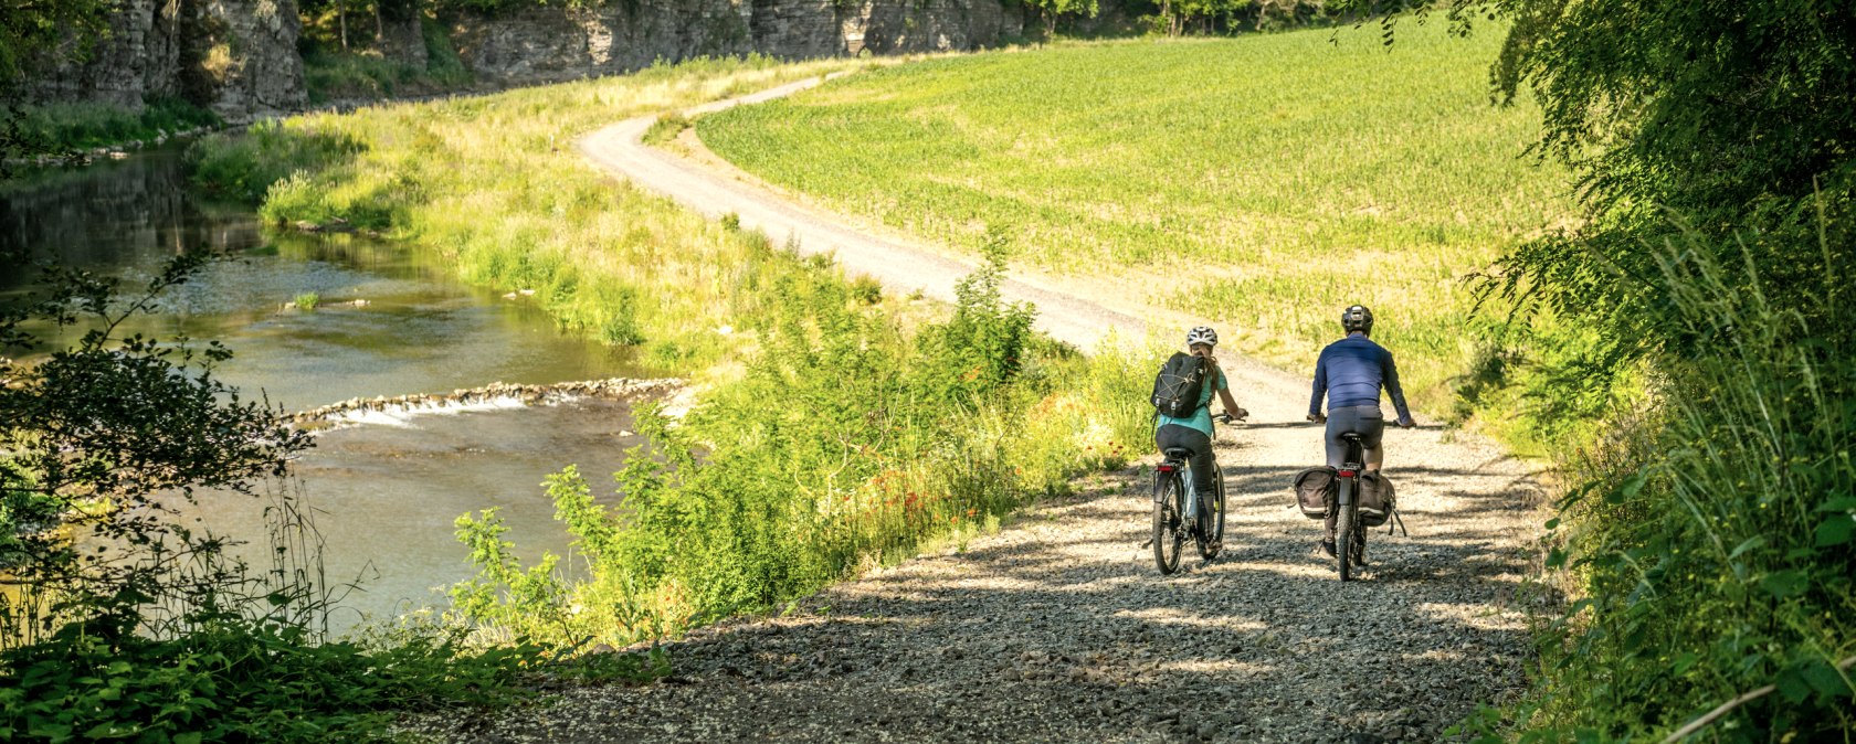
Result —
[[[1023, 33], [1013, 0], [609, 0], [445, 19], [477, 80], [507, 87], [620, 74], [698, 56], [974, 50]], [[384, 52], [425, 65], [416, 4], [382, 13]], [[122, 0], [111, 33], [82, 65], [37, 76], [41, 102], [141, 106], [161, 96], [228, 121], [308, 104], [295, 0]]]

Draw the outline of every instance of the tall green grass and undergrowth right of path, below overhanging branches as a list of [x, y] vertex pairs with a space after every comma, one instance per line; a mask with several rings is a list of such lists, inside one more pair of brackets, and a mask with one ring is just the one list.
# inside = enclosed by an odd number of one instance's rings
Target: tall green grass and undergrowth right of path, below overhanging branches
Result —
[[1657, 358], [1659, 404], [1579, 458], [1550, 560], [1576, 601], [1544, 635], [1537, 698], [1513, 711], [1522, 740], [1663, 737], [1761, 688], [1691, 740], [1856, 731], [1837, 668], [1856, 657], [1856, 345], [1767, 299], [1850, 289], [1772, 289], [1717, 254], [1665, 250], [1670, 330], [1706, 351]]

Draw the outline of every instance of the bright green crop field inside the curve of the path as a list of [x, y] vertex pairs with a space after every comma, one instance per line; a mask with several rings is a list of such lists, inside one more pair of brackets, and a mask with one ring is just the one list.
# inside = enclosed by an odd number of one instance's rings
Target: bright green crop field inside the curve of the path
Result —
[[1416, 404], [1438, 410], [1494, 321], [1464, 278], [1572, 213], [1496, 108], [1500, 33], [1438, 24], [1138, 41], [865, 71], [696, 122], [742, 169], [817, 204], [976, 252], [1108, 278], [1242, 351], [1312, 367], [1366, 302]]

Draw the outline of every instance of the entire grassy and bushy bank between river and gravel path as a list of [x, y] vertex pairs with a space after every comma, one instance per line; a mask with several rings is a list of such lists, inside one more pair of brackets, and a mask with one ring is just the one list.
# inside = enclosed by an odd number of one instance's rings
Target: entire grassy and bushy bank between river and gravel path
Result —
[[[1141, 445], [1145, 356], [1091, 360], [1034, 340], [1032, 314], [993, 293], [997, 276], [971, 284], [948, 317], [612, 184], [574, 148], [614, 117], [863, 65], [703, 61], [202, 143], [200, 173], [230, 180], [303, 163], [271, 187], [241, 182], [265, 195], [271, 224], [342, 219], [425, 243], [460, 276], [525, 289], [562, 327], [707, 386], [676, 430], [640, 414], [651, 447], [620, 481], [625, 520], [586, 501], [603, 473], [551, 479], [564, 527], [590, 555], [586, 579], [555, 575], [546, 557], [484, 564], [453, 594], [464, 612], [546, 638], [674, 636], [900, 560], [921, 540], [997, 529]], [[696, 503], [713, 505], [707, 518], [689, 512]], [[479, 555], [507, 555], [497, 520], [460, 520]], [[553, 599], [509, 594], [514, 583], [555, 586], [540, 594]]]

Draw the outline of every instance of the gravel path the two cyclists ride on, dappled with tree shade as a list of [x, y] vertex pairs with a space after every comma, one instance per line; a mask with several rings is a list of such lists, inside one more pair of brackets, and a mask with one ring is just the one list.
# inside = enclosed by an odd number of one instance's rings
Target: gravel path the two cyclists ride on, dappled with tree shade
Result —
[[[768, 91], [791, 93], [798, 85]], [[754, 100], [754, 98], [750, 98]], [[967, 267], [863, 236], [646, 148], [650, 119], [583, 143], [618, 174], [705, 213], [833, 250], [852, 273], [945, 297]], [[1052, 336], [1138, 334], [1062, 288], [1010, 289]], [[438, 724], [455, 740], [1377, 742], [1442, 740], [1524, 685], [1539, 486], [1526, 464], [1437, 427], [1386, 432], [1411, 536], [1375, 531], [1364, 581], [1316, 557], [1290, 508], [1321, 458], [1307, 382], [1225, 360], [1255, 423], [1219, 430], [1225, 555], [1160, 577], [1145, 466], [1091, 475], [1002, 531], [872, 570], [776, 618], [672, 644], [676, 675], [574, 688], [561, 705]]]

